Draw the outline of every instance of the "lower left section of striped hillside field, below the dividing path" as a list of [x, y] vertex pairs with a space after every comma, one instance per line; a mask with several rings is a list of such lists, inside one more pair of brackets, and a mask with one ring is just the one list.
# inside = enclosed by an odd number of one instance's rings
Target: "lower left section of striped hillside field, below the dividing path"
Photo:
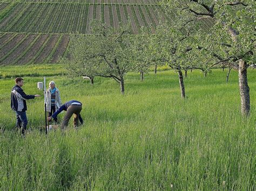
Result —
[[0, 38], [0, 65], [56, 63], [64, 55], [69, 40], [69, 35], [63, 34], [5, 33]]

